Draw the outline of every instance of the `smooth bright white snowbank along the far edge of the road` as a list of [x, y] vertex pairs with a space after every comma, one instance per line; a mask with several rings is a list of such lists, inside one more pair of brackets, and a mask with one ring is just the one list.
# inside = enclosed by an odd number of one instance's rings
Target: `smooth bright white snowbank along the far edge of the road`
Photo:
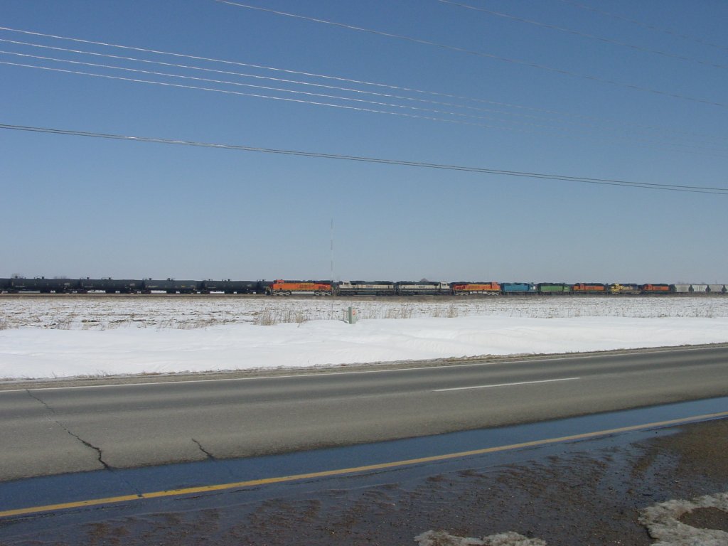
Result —
[[469, 316], [0, 331], [0, 378], [296, 368], [728, 341], [728, 317]]

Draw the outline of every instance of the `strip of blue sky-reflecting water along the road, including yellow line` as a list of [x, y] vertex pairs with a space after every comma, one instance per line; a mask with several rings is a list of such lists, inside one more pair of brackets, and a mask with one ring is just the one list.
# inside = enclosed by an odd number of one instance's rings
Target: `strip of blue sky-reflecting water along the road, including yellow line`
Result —
[[630, 443], [669, 432], [665, 427], [721, 416], [728, 416], [728, 397], [298, 454], [18, 480], [0, 485], [0, 542], [31, 529], [42, 532], [119, 516], [430, 479], [443, 472]]

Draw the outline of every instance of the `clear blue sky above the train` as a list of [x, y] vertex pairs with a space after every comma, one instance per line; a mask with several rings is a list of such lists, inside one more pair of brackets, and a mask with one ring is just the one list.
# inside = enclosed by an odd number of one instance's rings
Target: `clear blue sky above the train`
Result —
[[3, 128], [0, 277], [728, 282], [725, 1], [248, 1], [3, 0], [0, 123], [711, 193]]

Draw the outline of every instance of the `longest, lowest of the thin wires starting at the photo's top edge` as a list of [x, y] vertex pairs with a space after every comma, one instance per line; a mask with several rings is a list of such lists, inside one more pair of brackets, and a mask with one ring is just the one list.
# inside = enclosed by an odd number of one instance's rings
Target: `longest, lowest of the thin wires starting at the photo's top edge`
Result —
[[527, 66], [529, 68], [538, 68], [539, 70], [553, 72], [554, 74], [562, 74], [563, 76], [570, 76], [570, 77], [579, 78], [579, 79], [588, 79], [592, 82], [614, 85], [614, 86], [622, 87], [625, 89], [650, 92], [655, 95], [662, 95], [665, 97], [678, 98], [681, 100], [689, 100], [691, 102], [707, 104], [709, 106], [719, 106], [720, 108], [728, 108], [728, 104], [726, 104], [726, 103], [717, 103], [717, 102], [714, 102], [713, 100], [690, 97], [688, 95], [679, 95], [677, 93], [652, 89], [651, 87], [643, 87], [643, 86], [636, 85], [636, 84], [617, 82], [616, 80], [602, 78], [601, 76], [591, 76], [589, 74], [579, 74], [577, 72], [572, 72], [569, 70], [565, 70], [563, 68], [555, 68], [553, 66], [547, 66], [547, 65], [540, 64], [540, 63], [533, 63], [529, 60], [501, 57], [500, 55], [494, 55], [493, 53], [487, 53], [487, 52], [476, 51], [476, 50], [468, 50], [465, 47], [458, 47], [458, 46], [454, 46], [454, 45], [450, 45], [450, 44], [442, 44], [437, 41], [430, 41], [430, 40], [425, 40], [425, 39], [420, 39], [420, 38], [414, 38], [412, 36], [403, 36], [402, 34], [395, 34], [395, 33], [391, 33], [391, 32], [377, 31], [372, 28], [363, 28], [363, 27], [356, 26], [356, 25], [347, 25], [346, 23], [337, 23], [336, 21], [318, 19], [317, 17], [308, 17], [306, 15], [296, 15], [294, 13], [281, 12], [276, 9], [269, 9], [269, 8], [264, 8], [264, 7], [259, 7], [259, 6], [250, 6], [249, 4], [240, 4], [240, 2], [234, 2], [231, 0], [215, 0], [215, 1], [219, 2], [221, 4], [228, 4], [228, 5], [234, 6], [234, 7], [242, 7], [245, 9], [255, 9], [255, 10], [258, 10], [261, 12], [273, 13], [275, 15], [282, 15], [284, 17], [293, 17], [295, 19], [306, 20], [306, 21], [310, 21], [312, 23], [322, 23], [325, 25], [332, 25], [332, 26], [336, 26], [339, 28], [347, 28], [352, 31], [365, 32], [365, 33], [370, 33], [370, 34], [376, 34], [378, 36], [385, 36], [387, 38], [409, 41], [414, 44], [439, 47], [440, 49], [443, 49], [443, 50], [455, 51], [455, 52], [459, 52], [459, 53], [467, 53], [468, 55], [475, 55], [477, 57], [483, 57], [483, 58], [488, 58], [488, 59], [493, 59], [493, 60], [501, 60], [505, 63], [511, 63], [511, 64], [515, 64], [518, 66]]

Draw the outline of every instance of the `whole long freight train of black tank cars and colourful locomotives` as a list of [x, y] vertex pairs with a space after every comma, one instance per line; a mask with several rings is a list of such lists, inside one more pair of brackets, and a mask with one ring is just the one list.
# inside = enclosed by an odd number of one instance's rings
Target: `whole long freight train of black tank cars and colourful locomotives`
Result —
[[679, 294], [728, 293], [728, 285], [634, 284], [613, 282], [430, 282], [430, 281], [300, 281], [300, 280], [116, 280], [104, 279], [0, 279], [4, 293], [167, 293], [268, 294], [290, 296], [508, 296], [515, 294]]

